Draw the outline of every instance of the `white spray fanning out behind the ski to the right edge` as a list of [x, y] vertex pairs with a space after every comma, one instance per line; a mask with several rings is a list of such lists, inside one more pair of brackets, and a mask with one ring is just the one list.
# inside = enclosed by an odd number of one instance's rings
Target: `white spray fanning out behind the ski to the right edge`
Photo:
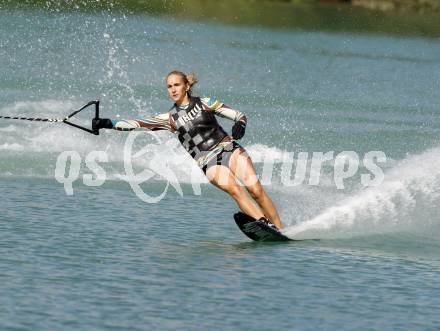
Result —
[[440, 233], [440, 148], [409, 156], [366, 188], [283, 233], [292, 239], [337, 239], [393, 232]]

